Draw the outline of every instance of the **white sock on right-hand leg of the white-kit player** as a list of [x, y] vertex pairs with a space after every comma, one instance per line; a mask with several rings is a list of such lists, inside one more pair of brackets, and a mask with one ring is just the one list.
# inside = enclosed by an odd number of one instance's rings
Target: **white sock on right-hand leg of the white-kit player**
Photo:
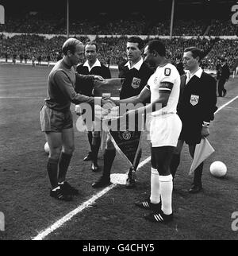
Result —
[[172, 213], [172, 192], [173, 192], [173, 176], [159, 176], [159, 192], [161, 194], [161, 210], [164, 214]]

